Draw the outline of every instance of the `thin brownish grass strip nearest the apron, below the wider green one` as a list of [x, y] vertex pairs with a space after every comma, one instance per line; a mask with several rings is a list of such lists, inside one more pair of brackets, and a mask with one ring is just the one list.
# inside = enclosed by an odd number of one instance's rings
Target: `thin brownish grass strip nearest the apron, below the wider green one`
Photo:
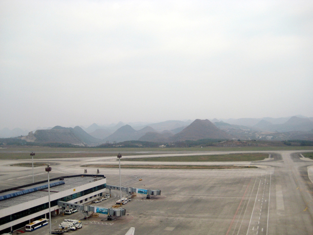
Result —
[[[118, 165], [82, 165], [82, 167], [96, 167], [96, 168], [119, 168]], [[250, 169], [258, 168], [256, 166], [245, 165], [121, 165], [121, 168], [135, 168], [135, 169]]]

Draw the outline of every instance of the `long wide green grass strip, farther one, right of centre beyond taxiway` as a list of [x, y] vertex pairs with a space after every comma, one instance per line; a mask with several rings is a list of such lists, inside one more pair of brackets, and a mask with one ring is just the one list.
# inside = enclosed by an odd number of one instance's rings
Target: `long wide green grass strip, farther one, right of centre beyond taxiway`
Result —
[[143, 162], [251, 162], [261, 161], [268, 158], [266, 153], [242, 153], [223, 155], [201, 155], [201, 156], [175, 156], [175, 157], [152, 157], [152, 158], [121, 158], [121, 161], [143, 161]]

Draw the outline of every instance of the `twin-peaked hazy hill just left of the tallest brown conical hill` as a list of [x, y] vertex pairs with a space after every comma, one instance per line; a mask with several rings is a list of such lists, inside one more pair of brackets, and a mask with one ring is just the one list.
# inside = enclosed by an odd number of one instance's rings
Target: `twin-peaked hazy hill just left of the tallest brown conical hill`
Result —
[[156, 132], [156, 130], [150, 126], [146, 126], [143, 129], [136, 131], [130, 125], [125, 125], [117, 129], [112, 135], [108, 136], [104, 140], [109, 142], [137, 141], [147, 132]]

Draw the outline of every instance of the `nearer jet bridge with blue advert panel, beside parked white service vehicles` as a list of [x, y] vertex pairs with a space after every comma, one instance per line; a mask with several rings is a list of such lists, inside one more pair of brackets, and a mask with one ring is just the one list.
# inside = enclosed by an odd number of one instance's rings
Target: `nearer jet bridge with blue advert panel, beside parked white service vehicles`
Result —
[[63, 201], [58, 201], [59, 207], [69, 208], [69, 209], [77, 209], [80, 211], [91, 211], [95, 213], [107, 214], [108, 220], [112, 218], [112, 216], [123, 216], [126, 215], [126, 210], [124, 208], [103, 208], [103, 207], [94, 207], [90, 205], [80, 205], [75, 203], [68, 203]]

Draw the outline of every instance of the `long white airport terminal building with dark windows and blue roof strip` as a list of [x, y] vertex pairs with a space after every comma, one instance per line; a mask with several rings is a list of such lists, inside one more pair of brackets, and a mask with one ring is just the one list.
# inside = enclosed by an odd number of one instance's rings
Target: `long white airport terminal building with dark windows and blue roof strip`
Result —
[[[58, 201], [83, 204], [106, 192], [104, 175], [73, 175], [50, 180], [51, 215], [61, 213]], [[41, 181], [0, 191], [0, 234], [48, 218], [48, 181]]]

